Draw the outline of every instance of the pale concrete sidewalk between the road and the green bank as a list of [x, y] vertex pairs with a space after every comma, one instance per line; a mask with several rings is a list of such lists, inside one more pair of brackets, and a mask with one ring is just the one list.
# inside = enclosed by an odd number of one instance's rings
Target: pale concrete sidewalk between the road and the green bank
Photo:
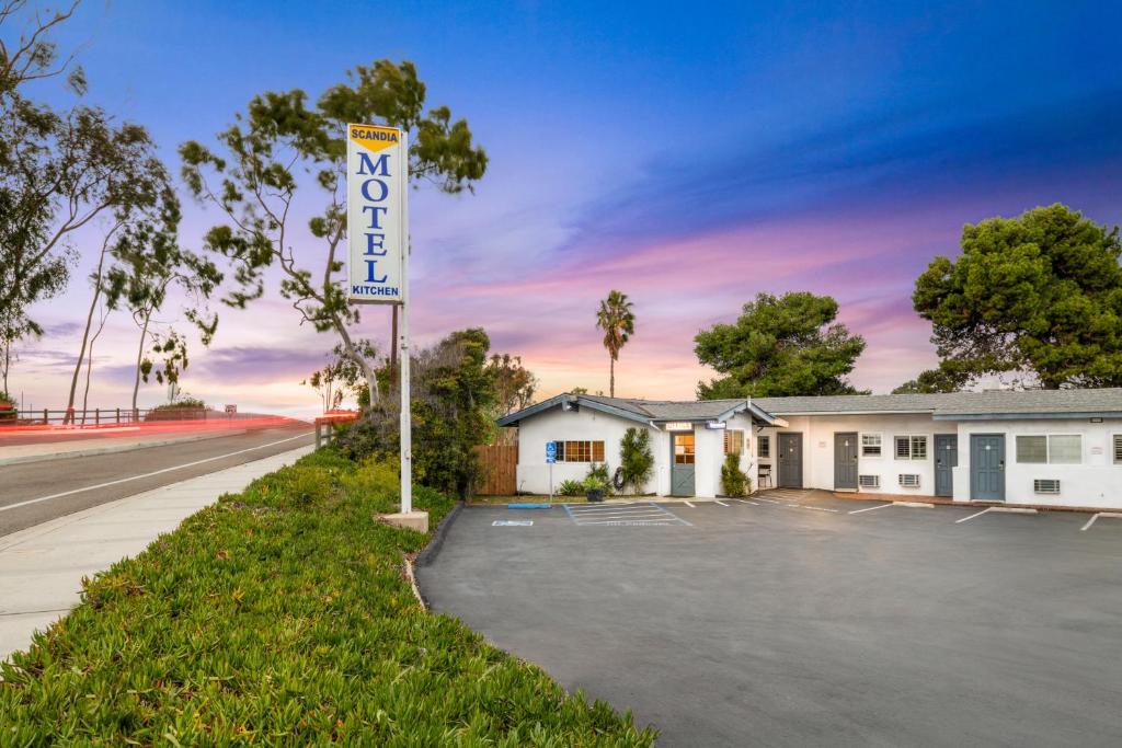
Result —
[[83, 576], [140, 553], [222, 493], [240, 491], [311, 451], [247, 462], [0, 537], [0, 659], [76, 606]]

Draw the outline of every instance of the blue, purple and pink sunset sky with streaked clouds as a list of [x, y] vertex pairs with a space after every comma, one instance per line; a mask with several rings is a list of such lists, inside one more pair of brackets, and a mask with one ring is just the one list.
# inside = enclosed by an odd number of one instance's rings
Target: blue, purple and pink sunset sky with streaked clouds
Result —
[[[884, 393], [935, 362], [911, 288], [964, 223], [1054, 202], [1122, 222], [1119, 28], [1110, 2], [122, 0], [88, 2], [58, 39], [86, 99], [147, 126], [176, 174], [176, 146], [213, 142], [254, 94], [314, 99], [356, 64], [415, 62], [427, 103], [467, 118], [490, 156], [473, 195], [411, 197], [417, 343], [482, 326], [542, 396], [607, 390], [595, 310], [618, 288], [637, 325], [617, 394], [691, 398], [712, 376], [693, 335], [757, 292], [835, 296], [868, 341], [853, 382]], [[29, 93], [64, 101], [56, 89]], [[184, 242], [218, 220], [190, 205]], [[65, 404], [89, 266], [37, 310], [48, 334], [12, 371], [24, 405]], [[362, 332], [385, 340], [387, 320]], [[91, 407], [127, 405], [136, 334], [110, 318]], [[333, 342], [272, 294], [222, 312], [183, 386], [310, 413], [300, 381]]]

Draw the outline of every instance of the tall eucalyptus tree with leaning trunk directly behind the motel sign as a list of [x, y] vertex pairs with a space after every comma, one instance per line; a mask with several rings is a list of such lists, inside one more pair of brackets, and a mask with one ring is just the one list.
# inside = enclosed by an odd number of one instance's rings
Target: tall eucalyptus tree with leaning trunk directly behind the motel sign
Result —
[[[362, 354], [352, 327], [358, 308], [340, 285], [344, 264], [346, 126], [380, 122], [410, 132], [410, 177], [445, 193], [470, 191], [487, 168], [465, 120], [447, 107], [425, 108], [426, 90], [410, 62], [380, 59], [358, 66], [346, 83], [314, 104], [300, 90], [255, 96], [218, 135], [220, 153], [196, 141], [181, 146], [183, 176], [192, 194], [224, 213], [205, 246], [227, 256], [243, 285], [227, 304], [243, 307], [265, 293], [267, 270], [277, 268], [275, 290], [292, 303], [301, 324], [334, 332], [377, 397], [376, 362]], [[307, 182], [313, 182], [314, 187]], [[319, 188], [319, 206], [297, 207], [298, 191]], [[294, 213], [311, 212], [306, 231]], [[302, 249], [297, 251], [297, 246]]]

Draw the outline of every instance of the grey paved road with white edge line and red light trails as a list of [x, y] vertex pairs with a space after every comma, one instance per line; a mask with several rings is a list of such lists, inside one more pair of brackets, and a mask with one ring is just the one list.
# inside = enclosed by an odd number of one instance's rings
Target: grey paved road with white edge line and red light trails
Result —
[[311, 426], [293, 422], [197, 442], [0, 467], [0, 536], [312, 442]]

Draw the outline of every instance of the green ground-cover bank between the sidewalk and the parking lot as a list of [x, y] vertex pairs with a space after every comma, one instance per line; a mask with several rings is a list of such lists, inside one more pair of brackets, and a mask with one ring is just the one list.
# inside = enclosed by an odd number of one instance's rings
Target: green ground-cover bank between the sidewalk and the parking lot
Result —
[[85, 580], [0, 665], [0, 745], [652, 745], [420, 606], [402, 563], [427, 537], [374, 518], [396, 483], [320, 451]]

